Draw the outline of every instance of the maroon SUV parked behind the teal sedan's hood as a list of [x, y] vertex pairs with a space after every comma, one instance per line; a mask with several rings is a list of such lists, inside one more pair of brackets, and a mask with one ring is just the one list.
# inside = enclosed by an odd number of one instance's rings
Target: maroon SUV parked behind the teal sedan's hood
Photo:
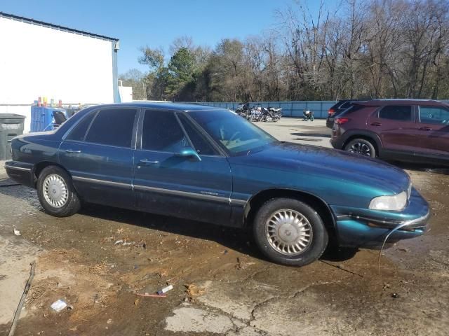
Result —
[[449, 165], [449, 104], [417, 99], [356, 102], [335, 118], [330, 143], [371, 158]]

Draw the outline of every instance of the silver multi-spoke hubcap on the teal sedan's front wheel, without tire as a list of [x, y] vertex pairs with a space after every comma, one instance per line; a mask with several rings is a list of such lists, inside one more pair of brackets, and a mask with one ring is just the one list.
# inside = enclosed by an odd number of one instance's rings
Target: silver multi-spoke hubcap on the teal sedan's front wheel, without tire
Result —
[[283, 255], [300, 255], [311, 244], [312, 230], [307, 218], [292, 209], [281, 209], [265, 224], [267, 240]]

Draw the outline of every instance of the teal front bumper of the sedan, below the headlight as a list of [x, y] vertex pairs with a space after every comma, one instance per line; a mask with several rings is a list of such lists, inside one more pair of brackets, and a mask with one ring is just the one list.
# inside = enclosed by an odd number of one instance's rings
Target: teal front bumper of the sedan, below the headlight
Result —
[[429, 230], [429, 204], [415, 188], [403, 211], [331, 208], [337, 218], [340, 246], [377, 248], [387, 236], [387, 243], [391, 244], [419, 237]]

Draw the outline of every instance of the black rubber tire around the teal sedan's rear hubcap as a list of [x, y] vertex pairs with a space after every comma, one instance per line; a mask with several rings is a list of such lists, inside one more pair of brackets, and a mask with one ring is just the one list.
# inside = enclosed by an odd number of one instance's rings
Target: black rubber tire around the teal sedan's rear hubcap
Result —
[[[63, 205], [60, 207], [55, 207], [48, 200], [46, 200], [43, 183], [46, 181], [47, 176], [59, 176], [64, 181], [65, 186], [67, 186], [67, 200], [65, 200]], [[72, 179], [69, 174], [67, 174], [67, 172], [60, 167], [45, 167], [41, 174], [39, 174], [36, 189], [39, 202], [41, 202], [46, 214], [50, 214], [55, 217], [67, 217], [76, 214], [79, 209], [81, 209], [81, 201], [79, 200], [79, 196], [74, 189]]]

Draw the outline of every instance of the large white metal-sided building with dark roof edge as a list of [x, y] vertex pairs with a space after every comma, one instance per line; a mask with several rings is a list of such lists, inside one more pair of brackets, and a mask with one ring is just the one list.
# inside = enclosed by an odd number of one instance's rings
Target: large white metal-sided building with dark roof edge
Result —
[[26, 116], [38, 97], [62, 104], [120, 102], [119, 40], [0, 12], [0, 113]]

